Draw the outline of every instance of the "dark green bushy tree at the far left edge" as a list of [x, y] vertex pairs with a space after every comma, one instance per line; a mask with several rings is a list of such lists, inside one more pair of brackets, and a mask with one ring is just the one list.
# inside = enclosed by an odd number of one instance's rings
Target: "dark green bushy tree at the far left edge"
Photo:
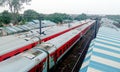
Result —
[[2, 12], [0, 16], [1, 23], [9, 24], [11, 21], [11, 14], [8, 11]]

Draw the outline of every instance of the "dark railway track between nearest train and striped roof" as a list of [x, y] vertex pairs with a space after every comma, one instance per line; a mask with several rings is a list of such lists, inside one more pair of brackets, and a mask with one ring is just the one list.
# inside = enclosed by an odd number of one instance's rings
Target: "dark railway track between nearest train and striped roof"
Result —
[[87, 52], [93, 31], [88, 31], [50, 72], [78, 72]]

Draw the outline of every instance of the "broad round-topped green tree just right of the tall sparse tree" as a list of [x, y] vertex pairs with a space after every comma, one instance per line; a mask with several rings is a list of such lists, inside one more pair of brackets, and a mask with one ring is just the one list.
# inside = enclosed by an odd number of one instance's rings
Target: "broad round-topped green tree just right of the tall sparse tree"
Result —
[[23, 14], [24, 19], [26, 21], [31, 21], [33, 19], [38, 19], [39, 15], [40, 14], [37, 13], [36, 11], [34, 11], [34, 10], [26, 10], [26, 11], [24, 11], [24, 14]]

